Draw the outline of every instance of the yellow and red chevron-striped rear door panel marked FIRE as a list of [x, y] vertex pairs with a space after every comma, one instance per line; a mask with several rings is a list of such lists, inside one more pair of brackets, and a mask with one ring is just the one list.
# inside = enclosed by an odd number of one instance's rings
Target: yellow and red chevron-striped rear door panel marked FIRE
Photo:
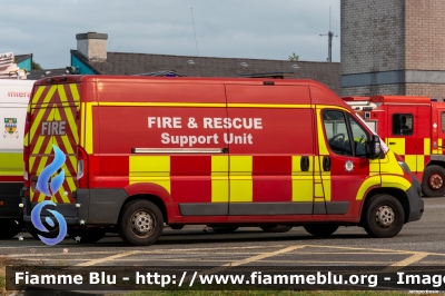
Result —
[[78, 111], [79, 89], [76, 83], [37, 87], [30, 103], [28, 137], [31, 201], [72, 203]]

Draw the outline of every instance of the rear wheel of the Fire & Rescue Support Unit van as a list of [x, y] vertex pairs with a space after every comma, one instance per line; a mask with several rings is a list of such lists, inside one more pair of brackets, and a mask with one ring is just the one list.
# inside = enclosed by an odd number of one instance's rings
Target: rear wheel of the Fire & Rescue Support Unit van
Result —
[[151, 201], [138, 199], [125, 205], [118, 233], [123, 241], [134, 246], [155, 244], [164, 228], [164, 217], [159, 208]]

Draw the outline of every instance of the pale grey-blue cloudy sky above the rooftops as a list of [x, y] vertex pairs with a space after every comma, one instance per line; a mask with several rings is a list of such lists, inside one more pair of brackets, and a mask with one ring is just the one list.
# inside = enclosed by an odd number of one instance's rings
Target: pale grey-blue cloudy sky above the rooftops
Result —
[[[2, 1], [0, 53], [33, 53], [43, 69], [70, 66], [77, 33], [108, 34], [108, 51], [326, 61], [340, 59], [340, 0]], [[195, 30], [194, 30], [195, 23]], [[195, 39], [196, 32], [196, 39]]]

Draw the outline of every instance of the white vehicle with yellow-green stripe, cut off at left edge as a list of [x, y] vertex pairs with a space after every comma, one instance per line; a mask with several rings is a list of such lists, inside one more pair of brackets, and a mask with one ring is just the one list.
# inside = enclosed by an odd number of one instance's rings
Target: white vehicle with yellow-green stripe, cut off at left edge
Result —
[[22, 227], [23, 131], [33, 80], [0, 79], [0, 238]]

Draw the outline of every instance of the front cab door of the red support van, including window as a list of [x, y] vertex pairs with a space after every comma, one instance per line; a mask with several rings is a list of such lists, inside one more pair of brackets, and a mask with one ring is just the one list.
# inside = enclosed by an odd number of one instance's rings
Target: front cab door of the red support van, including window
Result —
[[354, 217], [363, 182], [370, 177], [366, 142], [369, 135], [350, 114], [342, 109], [317, 109], [320, 172], [326, 215]]

